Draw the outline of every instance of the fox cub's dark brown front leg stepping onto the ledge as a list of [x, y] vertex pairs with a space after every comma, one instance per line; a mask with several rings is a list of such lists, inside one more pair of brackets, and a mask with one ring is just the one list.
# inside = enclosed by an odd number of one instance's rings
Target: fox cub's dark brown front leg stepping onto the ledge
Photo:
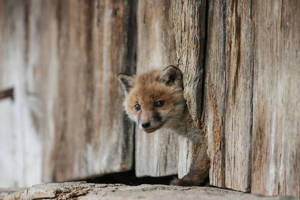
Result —
[[210, 161], [206, 153], [205, 145], [202, 144], [198, 150], [198, 155], [190, 166], [190, 171], [182, 179], [175, 178], [170, 181], [170, 185], [177, 186], [198, 186], [208, 175]]

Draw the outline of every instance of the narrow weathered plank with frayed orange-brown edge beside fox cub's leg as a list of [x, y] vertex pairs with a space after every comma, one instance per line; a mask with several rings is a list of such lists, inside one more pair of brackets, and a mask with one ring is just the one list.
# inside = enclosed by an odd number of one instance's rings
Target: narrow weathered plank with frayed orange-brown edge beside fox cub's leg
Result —
[[224, 2], [209, 1], [204, 65], [204, 126], [211, 160], [210, 184], [225, 186], [226, 24]]

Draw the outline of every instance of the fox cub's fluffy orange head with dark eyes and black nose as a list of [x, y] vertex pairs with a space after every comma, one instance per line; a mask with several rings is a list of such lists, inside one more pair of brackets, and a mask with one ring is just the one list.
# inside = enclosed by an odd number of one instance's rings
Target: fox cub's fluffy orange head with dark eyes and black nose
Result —
[[125, 93], [123, 102], [129, 118], [146, 133], [174, 127], [182, 120], [186, 101], [182, 73], [175, 66], [140, 75], [118, 76]]

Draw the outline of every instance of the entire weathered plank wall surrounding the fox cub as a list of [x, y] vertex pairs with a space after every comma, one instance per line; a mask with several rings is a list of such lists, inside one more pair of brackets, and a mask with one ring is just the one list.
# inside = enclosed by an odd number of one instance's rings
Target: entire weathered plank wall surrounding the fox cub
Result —
[[0, 11], [0, 89], [16, 96], [0, 101], [10, 187], [130, 170], [133, 151], [139, 177], [184, 176], [198, 147], [136, 130], [133, 149], [117, 80], [176, 64], [210, 184], [300, 196], [297, 0], [3, 0]]

